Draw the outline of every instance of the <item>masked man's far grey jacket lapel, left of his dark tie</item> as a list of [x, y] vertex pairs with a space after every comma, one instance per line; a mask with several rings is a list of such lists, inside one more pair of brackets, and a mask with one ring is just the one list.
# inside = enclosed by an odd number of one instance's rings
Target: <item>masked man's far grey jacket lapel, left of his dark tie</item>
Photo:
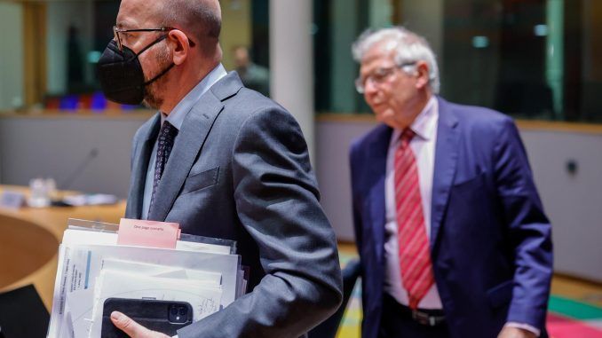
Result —
[[146, 123], [139, 136], [139, 146], [132, 154], [134, 159], [131, 168], [131, 185], [129, 200], [125, 210], [128, 218], [140, 219], [142, 216], [142, 200], [144, 199], [144, 188], [147, 182], [148, 161], [153, 151], [154, 141], [159, 134], [160, 115], [157, 113]]

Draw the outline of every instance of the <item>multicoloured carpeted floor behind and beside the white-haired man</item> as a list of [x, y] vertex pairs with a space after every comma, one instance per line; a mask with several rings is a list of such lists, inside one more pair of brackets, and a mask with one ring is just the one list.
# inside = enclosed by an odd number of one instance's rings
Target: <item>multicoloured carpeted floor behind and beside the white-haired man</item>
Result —
[[[343, 266], [355, 256], [352, 248], [340, 250]], [[554, 277], [547, 323], [552, 338], [602, 338], [602, 287], [595, 284], [583, 286], [583, 283]], [[360, 288], [359, 280], [347, 304], [337, 338], [360, 338]]]

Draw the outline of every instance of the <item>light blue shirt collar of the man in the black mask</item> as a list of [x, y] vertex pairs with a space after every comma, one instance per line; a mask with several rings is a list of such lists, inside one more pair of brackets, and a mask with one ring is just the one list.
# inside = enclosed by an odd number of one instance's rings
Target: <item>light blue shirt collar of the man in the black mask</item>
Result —
[[170, 122], [177, 130], [182, 127], [182, 122], [190, 109], [201, 99], [202, 94], [207, 92], [212, 85], [217, 83], [222, 77], [226, 76], [226, 68], [220, 63], [213, 68], [208, 75], [202, 78], [200, 83], [197, 83], [181, 101], [178, 102], [169, 115], [161, 113], [161, 124], [167, 121]]

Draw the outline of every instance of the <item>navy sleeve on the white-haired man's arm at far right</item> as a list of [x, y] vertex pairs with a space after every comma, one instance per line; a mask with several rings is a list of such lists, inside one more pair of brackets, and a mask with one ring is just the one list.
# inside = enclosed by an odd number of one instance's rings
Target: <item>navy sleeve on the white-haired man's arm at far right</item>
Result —
[[551, 224], [543, 213], [519, 131], [510, 119], [497, 138], [495, 178], [515, 264], [507, 322], [541, 329], [550, 296]]

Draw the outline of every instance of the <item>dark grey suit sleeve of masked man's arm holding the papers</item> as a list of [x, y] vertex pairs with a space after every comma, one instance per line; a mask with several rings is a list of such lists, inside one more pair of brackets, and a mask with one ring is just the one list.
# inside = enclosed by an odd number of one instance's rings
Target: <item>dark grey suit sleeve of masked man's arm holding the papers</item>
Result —
[[265, 277], [184, 337], [298, 337], [341, 302], [335, 234], [324, 215], [305, 139], [279, 108], [252, 114], [234, 145], [234, 200]]

